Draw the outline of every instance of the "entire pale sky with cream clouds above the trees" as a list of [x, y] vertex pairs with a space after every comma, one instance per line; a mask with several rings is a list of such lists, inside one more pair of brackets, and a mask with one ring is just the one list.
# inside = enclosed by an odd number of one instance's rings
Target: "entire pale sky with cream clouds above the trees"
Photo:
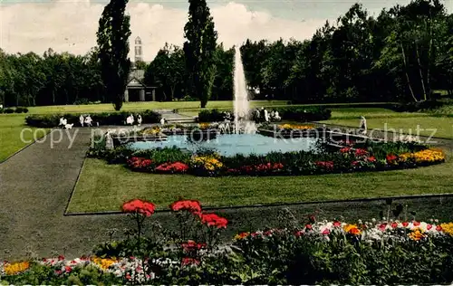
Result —
[[[207, 0], [225, 47], [251, 40], [309, 39], [326, 20], [334, 22], [353, 0]], [[370, 14], [382, 8], [405, 5], [409, 0], [359, 1]], [[5, 52], [84, 54], [96, 45], [98, 21], [106, 1], [0, 0], [0, 48]], [[444, 2], [453, 11], [453, 0]], [[165, 43], [182, 45], [188, 19], [188, 1], [130, 0], [130, 57], [133, 40], [140, 36], [143, 58], [151, 61]]]

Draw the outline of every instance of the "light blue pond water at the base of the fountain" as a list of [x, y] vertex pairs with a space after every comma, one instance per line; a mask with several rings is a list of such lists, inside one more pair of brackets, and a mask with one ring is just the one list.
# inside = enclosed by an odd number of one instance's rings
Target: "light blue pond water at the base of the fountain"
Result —
[[317, 138], [272, 138], [259, 134], [225, 134], [204, 141], [191, 141], [185, 135], [171, 135], [166, 141], [146, 141], [129, 143], [130, 148], [150, 149], [173, 147], [195, 152], [200, 148], [215, 149], [223, 156], [265, 155], [270, 152], [316, 151]]

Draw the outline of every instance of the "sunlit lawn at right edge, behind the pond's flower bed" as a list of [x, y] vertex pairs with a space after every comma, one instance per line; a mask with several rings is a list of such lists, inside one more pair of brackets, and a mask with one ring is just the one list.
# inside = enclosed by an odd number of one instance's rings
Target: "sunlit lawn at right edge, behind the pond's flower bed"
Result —
[[[330, 120], [323, 121], [328, 124], [350, 126], [357, 128], [360, 119], [342, 119], [336, 117]], [[435, 129], [434, 137], [453, 139], [453, 118], [451, 117], [389, 117], [389, 118], [367, 118], [368, 129], [395, 129], [397, 132], [417, 135], [419, 127], [419, 135], [432, 136]]]

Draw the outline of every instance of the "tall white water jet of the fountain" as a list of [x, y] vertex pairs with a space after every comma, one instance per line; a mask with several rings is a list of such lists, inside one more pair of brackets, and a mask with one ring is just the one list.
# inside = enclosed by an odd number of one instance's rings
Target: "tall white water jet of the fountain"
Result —
[[250, 106], [246, 87], [246, 74], [242, 64], [241, 51], [235, 46], [235, 71], [234, 81], [234, 105], [235, 105], [235, 133], [253, 134], [256, 132], [255, 122], [249, 120]]

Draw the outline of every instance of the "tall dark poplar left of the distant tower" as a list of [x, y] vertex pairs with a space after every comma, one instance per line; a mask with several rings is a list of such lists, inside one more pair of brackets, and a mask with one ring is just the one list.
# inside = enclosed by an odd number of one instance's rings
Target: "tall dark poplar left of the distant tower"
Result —
[[130, 72], [127, 4], [128, 0], [111, 0], [102, 12], [97, 33], [102, 81], [115, 110], [121, 109]]

